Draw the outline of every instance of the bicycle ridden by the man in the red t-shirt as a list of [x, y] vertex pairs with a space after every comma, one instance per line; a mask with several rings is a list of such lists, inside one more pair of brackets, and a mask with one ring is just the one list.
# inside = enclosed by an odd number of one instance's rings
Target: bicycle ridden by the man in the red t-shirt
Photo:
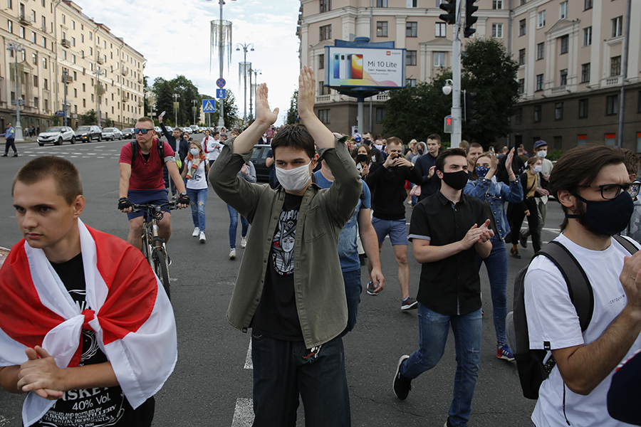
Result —
[[[161, 210], [163, 207], [168, 206], [170, 210], [178, 209], [178, 201], [167, 201], [163, 204], [132, 204], [132, 212], [144, 212], [142, 216], [142, 254], [147, 258], [147, 262], [151, 265], [152, 270], [160, 279], [162, 287], [167, 292], [167, 297], [170, 297], [170, 275], [169, 265], [170, 260], [167, 255], [167, 247], [165, 246], [165, 239], [158, 236], [158, 221], [164, 216]], [[151, 219], [150, 219], [151, 218]]]

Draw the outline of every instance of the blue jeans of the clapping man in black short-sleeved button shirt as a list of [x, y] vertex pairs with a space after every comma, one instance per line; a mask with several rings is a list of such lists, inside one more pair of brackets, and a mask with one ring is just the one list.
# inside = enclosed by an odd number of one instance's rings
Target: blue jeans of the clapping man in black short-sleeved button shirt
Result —
[[419, 346], [401, 367], [401, 374], [415, 379], [437, 365], [443, 352], [449, 325], [454, 332], [457, 350], [457, 373], [454, 375], [454, 397], [449, 406], [449, 422], [455, 427], [467, 426], [481, 362], [481, 309], [467, 315], [448, 316], [427, 309], [419, 303]]

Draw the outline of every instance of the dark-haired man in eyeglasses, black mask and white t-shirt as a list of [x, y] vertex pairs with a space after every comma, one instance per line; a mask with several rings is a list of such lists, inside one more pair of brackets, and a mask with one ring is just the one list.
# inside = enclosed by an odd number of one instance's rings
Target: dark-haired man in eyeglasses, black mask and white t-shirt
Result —
[[631, 255], [612, 236], [630, 221], [630, 194], [638, 186], [620, 149], [604, 145], [570, 149], [552, 170], [550, 192], [566, 216], [554, 240], [585, 271], [593, 302], [582, 330], [561, 271], [545, 256], [530, 263], [524, 282], [530, 348], [556, 361], [539, 389], [537, 427], [623, 425], [608, 414], [606, 395], [617, 364], [641, 349], [641, 252]]

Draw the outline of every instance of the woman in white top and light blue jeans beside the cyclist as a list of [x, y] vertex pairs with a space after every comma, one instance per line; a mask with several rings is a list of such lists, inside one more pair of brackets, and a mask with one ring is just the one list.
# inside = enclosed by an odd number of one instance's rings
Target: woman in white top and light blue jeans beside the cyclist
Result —
[[184, 158], [185, 167], [182, 169], [182, 177], [187, 178], [187, 194], [189, 204], [192, 207], [192, 219], [194, 220], [193, 237], [199, 237], [200, 243], [205, 242], [205, 210], [207, 203], [207, 173], [209, 164], [202, 145], [198, 142], [189, 142], [189, 154]]

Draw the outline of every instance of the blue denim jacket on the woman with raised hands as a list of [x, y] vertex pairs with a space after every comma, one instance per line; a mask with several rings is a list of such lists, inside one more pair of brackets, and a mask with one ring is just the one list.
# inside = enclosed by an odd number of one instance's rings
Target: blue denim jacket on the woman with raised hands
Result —
[[505, 202], [520, 203], [523, 200], [521, 179], [516, 178], [515, 181], [510, 181], [509, 186], [502, 182], [494, 182], [485, 178], [467, 181], [463, 192], [489, 203], [499, 236], [501, 236], [501, 239], [505, 239], [510, 232], [509, 222], [505, 214]]

